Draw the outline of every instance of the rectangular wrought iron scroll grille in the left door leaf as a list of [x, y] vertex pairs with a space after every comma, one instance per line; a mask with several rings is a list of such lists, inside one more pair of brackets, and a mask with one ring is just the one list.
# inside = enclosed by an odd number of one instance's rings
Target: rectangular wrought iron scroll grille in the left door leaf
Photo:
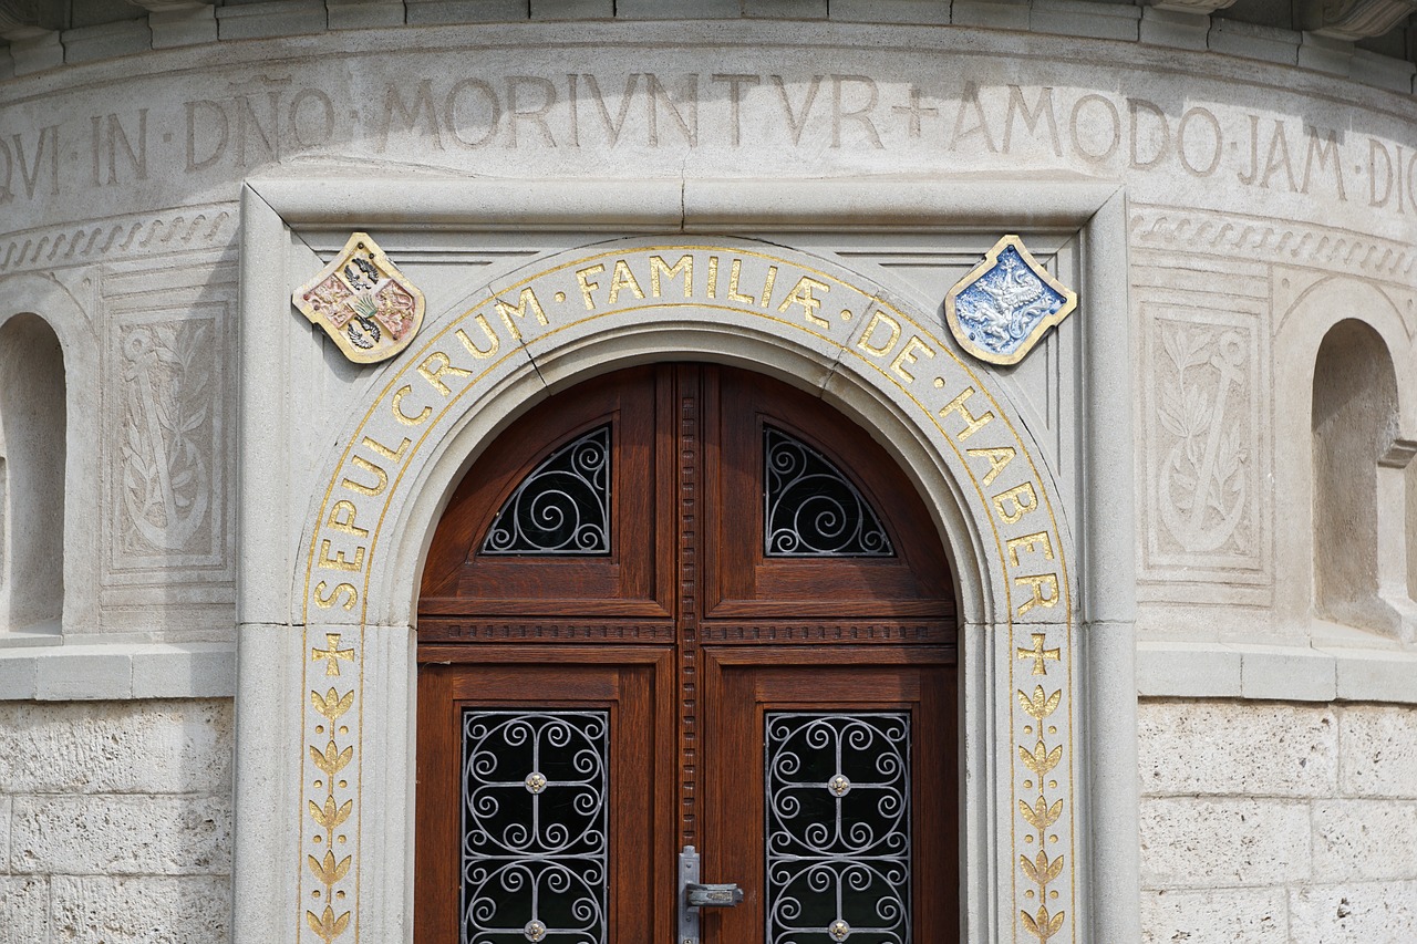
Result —
[[605, 944], [609, 713], [466, 709], [462, 944]]

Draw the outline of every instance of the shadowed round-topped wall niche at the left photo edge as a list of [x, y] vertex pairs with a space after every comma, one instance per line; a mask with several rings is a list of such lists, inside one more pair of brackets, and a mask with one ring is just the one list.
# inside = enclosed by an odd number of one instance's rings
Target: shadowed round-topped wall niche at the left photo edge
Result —
[[0, 325], [0, 628], [64, 617], [64, 349], [38, 315]]

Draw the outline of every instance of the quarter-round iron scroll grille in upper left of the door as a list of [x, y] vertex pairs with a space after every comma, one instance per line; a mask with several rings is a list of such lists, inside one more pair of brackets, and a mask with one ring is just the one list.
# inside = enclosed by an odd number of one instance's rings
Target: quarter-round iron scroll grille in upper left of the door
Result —
[[611, 553], [611, 427], [572, 439], [517, 485], [483, 554]]

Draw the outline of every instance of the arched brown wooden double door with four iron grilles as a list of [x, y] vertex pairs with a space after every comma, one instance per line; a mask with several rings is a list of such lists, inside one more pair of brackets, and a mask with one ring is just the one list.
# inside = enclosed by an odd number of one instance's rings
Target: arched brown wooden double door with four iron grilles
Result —
[[[951, 575], [822, 401], [697, 364], [547, 400], [418, 612], [419, 944], [956, 940]], [[696, 867], [741, 903], [687, 909]]]

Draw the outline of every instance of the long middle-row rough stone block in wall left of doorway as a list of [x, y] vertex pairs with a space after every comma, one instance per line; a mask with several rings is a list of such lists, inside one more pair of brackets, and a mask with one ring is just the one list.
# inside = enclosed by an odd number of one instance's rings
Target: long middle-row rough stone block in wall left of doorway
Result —
[[230, 875], [225, 797], [16, 797], [16, 875]]

